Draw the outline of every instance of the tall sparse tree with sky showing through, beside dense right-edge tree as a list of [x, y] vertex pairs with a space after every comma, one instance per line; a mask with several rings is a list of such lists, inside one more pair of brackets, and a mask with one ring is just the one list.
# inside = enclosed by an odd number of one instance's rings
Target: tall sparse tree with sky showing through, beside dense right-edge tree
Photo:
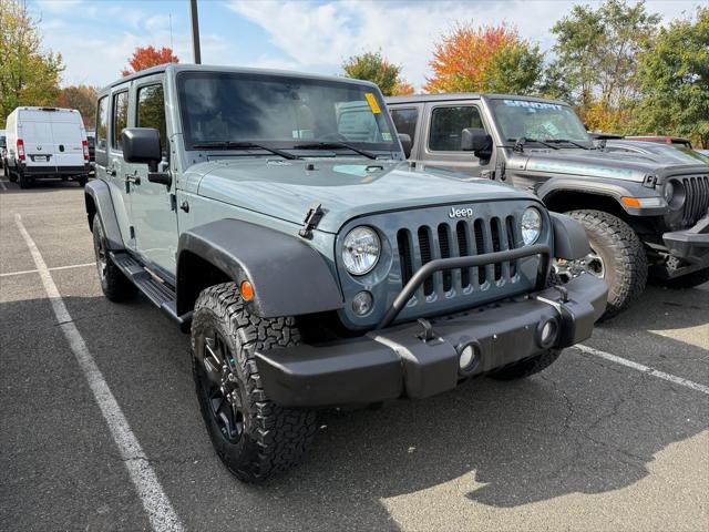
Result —
[[546, 91], [571, 95], [590, 127], [626, 129], [638, 99], [638, 53], [659, 21], [644, 1], [606, 0], [597, 9], [575, 6], [552, 27], [556, 60], [545, 76]]

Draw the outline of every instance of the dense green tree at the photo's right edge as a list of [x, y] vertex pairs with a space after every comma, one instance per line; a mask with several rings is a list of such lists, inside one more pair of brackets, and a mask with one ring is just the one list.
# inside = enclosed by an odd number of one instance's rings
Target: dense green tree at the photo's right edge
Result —
[[638, 133], [676, 134], [709, 146], [709, 8], [662, 28], [639, 57]]

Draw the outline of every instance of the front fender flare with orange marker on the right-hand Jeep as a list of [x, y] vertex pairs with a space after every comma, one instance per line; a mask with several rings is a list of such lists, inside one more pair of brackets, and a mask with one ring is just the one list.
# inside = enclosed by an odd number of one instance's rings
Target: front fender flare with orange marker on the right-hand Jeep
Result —
[[624, 204], [621, 197], [657, 197], [655, 188], [644, 186], [643, 183], [631, 181], [618, 182], [618, 180], [582, 177], [554, 177], [545, 182], [536, 191], [536, 195], [546, 203], [547, 198], [557, 193], [576, 192], [595, 194], [615, 200], [623, 211], [631, 216], [661, 216], [667, 212], [666, 206], [660, 207], [630, 207]]

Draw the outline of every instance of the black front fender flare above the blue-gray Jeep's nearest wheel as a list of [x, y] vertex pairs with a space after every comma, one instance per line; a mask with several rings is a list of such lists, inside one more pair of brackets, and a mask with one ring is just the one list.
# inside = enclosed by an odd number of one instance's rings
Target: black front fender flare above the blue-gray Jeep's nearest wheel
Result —
[[[296, 236], [239, 219], [193, 227], [177, 246], [177, 314], [192, 310], [189, 254], [229, 279], [251, 283], [249, 311], [263, 318], [298, 316], [342, 308], [342, 295], [322, 256]], [[192, 285], [194, 286], [194, 285]]]

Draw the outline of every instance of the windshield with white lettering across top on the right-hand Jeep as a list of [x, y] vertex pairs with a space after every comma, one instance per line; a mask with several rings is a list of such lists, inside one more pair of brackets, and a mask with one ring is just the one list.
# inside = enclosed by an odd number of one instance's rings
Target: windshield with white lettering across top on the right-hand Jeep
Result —
[[504, 141], [520, 137], [588, 142], [586, 129], [567, 106], [528, 100], [490, 100], [490, 109]]

